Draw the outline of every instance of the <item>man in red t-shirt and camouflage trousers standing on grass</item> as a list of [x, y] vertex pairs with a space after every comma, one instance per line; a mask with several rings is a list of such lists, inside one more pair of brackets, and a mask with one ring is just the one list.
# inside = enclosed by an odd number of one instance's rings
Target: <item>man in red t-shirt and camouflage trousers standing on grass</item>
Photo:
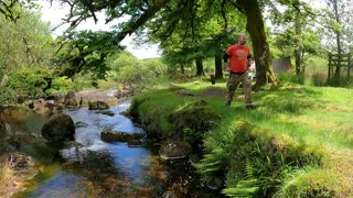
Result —
[[[243, 82], [245, 95], [246, 109], [256, 109], [258, 106], [253, 105], [252, 101], [252, 81], [248, 76], [248, 66], [250, 65], [250, 50], [245, 45], [246, 35], [238, 36], [238, 43], [229, 46], [224, 56], [224, 66], [229, 72], [229, 79], [227, 81], [227, 94], [225, 107], [229, 107], [233, 100], [234, 92], [238, 85]], [[229, 63], [228, 63], [229, 58]]]

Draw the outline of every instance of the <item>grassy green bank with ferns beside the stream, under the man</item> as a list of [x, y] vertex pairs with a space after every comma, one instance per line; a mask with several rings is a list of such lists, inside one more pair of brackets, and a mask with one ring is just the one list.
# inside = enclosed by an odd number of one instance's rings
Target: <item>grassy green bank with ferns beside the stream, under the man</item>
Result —
[[[150, 136], [178, 134], [191, 144], [201, 142], [203, 157], [195, 169], [225, 195], [353, 195], [352, 89], [284, 81], [254, 92], [260, 108], [248, 111], [242, 89], [232, 107], [224, 108], [224, 87], [202, 80], [159, 87], [137, 96], [130, 111]], [[184, 112], [201, 100], [204, 118], [196, 114], [201, 123], [189, 124]]]

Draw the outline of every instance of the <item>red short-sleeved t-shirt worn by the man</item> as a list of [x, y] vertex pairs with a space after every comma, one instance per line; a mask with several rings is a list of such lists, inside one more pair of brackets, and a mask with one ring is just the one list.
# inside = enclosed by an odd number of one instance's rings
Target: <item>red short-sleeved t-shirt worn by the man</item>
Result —
[[250, 55], [250, 50], [245, 45], [232, 45], [226, 53], [229, 55], [229, 69], [233, 73], [244, 73], [247, 70], [247, 57]]

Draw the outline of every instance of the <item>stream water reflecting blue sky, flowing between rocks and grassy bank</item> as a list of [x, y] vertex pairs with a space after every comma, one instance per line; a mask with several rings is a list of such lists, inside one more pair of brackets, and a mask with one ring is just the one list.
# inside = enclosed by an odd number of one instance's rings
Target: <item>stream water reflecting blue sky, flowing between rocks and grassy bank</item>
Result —
[[130, 101], [110, 107], [114, 117], [88, 108], [65, 110], [76, 127], [75, 141], [82, 147], [62, 151], [64, 162], [38, 166], [40, 174], [15, 197], [220, 197], [203, 187], [184, 160], [163, 161], [151, 147], [100, 140], [104, 129], [143, 132], [119, 114]]

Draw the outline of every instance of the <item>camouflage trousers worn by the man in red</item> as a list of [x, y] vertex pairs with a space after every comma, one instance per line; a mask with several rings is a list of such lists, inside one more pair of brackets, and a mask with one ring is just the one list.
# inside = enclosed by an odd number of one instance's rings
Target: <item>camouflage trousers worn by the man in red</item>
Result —
[[252, 105], [252, 81], [248, 77], [248, 72], [243, 74], [229, 74], [229, 79], [227, 81], [227, 94], [225, 98], [225, 106], [231, 106], [234, 92], [239, 84], [243, 82], [244, 95], [245, 95], [245, 106]]

